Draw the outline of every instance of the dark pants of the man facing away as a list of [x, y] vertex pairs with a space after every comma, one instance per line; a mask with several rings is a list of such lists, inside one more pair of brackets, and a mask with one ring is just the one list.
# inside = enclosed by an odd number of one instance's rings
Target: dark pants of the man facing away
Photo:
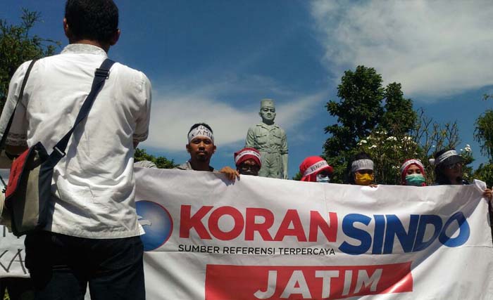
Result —
[[25, 263], [36, 300], [144, 300], [140, 237], [87, 239], [48, 231], [25, 238]]

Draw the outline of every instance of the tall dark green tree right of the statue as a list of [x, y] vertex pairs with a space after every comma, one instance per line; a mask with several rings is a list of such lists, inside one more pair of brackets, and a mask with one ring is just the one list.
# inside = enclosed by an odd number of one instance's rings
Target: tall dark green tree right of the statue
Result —
[[[337, 124], [325, 128], [325, 133], [331, 136], [324, 144], [324, 156], [334, 167], [333, 182], [343, 181], [349, 159], [361, 150], [359, 141], [373, 132], [384, 132], [401, 140], [416, 127], [413, 102], [404, 98], [401, 84], [394, 82], [384, 87], [382, 82], [382, 76], [372, 67], [358, 66], [354, 72], [347, 70], [337, 86], [339, 100], [331, 100], [326, 105], [330, 115], [337, 117]], [[382, 161], [389, 162], [388, 159]], [[396, 164], [389, 162], [390, 166]], [[380, 183], [387, 183], [387, 177], [390, 178], [385, 176], [385, 181]]]

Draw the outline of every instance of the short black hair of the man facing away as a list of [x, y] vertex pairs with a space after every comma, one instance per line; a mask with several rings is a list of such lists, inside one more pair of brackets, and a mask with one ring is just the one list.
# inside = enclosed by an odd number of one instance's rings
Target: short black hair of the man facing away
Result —
[[67, 0], [65, 19], [76, 41], [107, 43], [118, 30], [118, 7], [113, 0]]

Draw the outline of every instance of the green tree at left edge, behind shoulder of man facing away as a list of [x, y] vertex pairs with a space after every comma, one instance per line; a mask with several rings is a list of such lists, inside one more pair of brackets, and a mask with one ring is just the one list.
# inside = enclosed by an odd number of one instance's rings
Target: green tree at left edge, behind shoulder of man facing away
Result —
[[20, 64], [26, 60], [51, 56], [59, 41], [30, 35], [30, 30], [41, 19], [39, 12], [23, 8], [20, 25], [9, 25], [0, 19], [0, 111], [7, 98], [8, 83]]

